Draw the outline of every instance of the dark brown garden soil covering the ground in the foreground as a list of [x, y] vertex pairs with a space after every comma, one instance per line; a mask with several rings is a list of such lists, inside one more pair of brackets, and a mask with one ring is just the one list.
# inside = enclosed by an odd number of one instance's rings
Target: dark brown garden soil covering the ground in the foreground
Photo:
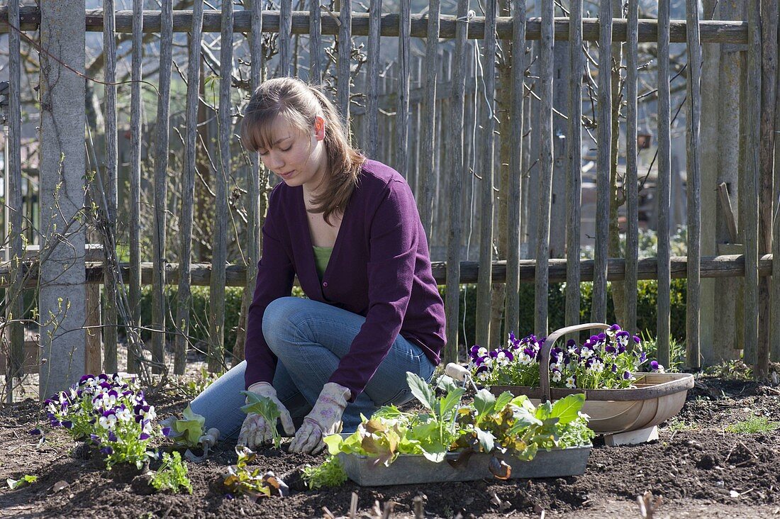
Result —
[[[170, 393], [147, 394], [161, 416], [186, 404]], [[725, 427], [753, 415], [780, 421], [780, 389], [755, 382], [699, 378], [680, 414], [661, 425], [657, 441], [604, 446], [597, 439], [585, 475], [500, 482], [445, 483], [310, 491], [303, 464], [323, 457], [261, 450], [257, 464], [282, 475], [289, 496], [252, 502], [222, 486], [236, 462], [221, 443], [207, 460], [188, 462], [193, 495], [154, 494], [134, 467], [105, 471], [97, 455], [78, 448], [62, 431], [38, 446], [28, 434], [39, 423], [38, 404], [25, 400], [0, 411], [0, 516], [7, 517], [336, 517], [349, 514], [356, 492], [357, 517], [393, 505], [391, 517], [414, 517], [420, 496], [425, 517], [640, 517], [636, 497], [662, 496], [654, 517], [780, 517], [780, 432], [737, 435]], [[85, 454], [86, 452], [86, 454]], [[37, 475], [10, 490], [5, 478]], [[58, 489], [65, 482], [64, 488]]]

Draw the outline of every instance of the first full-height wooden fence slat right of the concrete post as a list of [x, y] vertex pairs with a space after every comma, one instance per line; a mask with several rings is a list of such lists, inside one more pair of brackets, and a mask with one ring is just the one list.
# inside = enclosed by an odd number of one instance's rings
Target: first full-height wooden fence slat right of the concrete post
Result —
[[[116, 34], [114, 31], [114, 0], [103, 2], [105, 26], [103, 30], [103, 53], [105, 54], [104, 80], [105, 87], [105, 169], [103, 176], [103, 194], [105, 197], [106, 221], [103, 231], [103, 251], [105, 261], [116, 258], [116, 205], [117, 205], [117, 135], [116, 135]], [[97, 336], [103, 335], [103, 351], [105, 372], [118, 371], [116, 364], [116, 300], [117, 286], [115, 274], [107, 269], [105, 272], [105, 311], [103, 324], [105, 328], [93, 330]], [[87, 359], [87, 362], [89, 360]]]

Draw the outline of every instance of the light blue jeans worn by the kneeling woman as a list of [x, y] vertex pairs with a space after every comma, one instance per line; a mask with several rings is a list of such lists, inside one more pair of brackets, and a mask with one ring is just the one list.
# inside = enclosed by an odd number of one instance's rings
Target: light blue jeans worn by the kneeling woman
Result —
[[[263, 336], [278, 357], [273, 386], [296, 426], [311, 411], [322, 386], [338, 368], [341, 357], [349, 352], [349, 345], [365, 320], [350, 311], [300, 297], [281, 297], [266, 308]], [[369, 418], [378, 407], [411, 400], [406, 371], [430, 382], [434, 368], [420, 347], [396, 336], [363, 393], [347, 405], [342, 417], [343, 431], [354, 432], [360, 424], [360, 414]], [[246, 417], [240, 409], [244, 396], [239, 393], [244, 389], [245, 369], [243, 361], [190, 404], [194, 412], [206, 418], [206, 429], [218, 428], [224, 439], [237, 438]]]

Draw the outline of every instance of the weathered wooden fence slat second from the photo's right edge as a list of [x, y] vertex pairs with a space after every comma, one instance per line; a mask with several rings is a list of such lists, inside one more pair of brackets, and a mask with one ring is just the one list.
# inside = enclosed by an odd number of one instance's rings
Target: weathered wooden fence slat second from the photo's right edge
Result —
[[[761, 175], [761, 0], [747, 0], [747, 21], [750, 38], [747, 45], [747, 85], [745, 109], [745, 181], [744, 193], [740, 193], [740, 205], [744, 205], [745, 244], [745, 348], [744, 361], [748, 365], [757, 361], [758, 343], [758, 253], [759, 253], [759, 176]], [[743, 195], [743, 196], [742, 196]], [[740, 222], [742, 223], [742, 222]]]

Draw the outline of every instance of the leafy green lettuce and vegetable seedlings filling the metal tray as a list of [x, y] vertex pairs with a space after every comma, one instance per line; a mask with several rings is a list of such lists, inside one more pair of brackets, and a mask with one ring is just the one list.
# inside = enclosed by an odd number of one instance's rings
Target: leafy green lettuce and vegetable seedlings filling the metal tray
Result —
[[416, 375], [407, 374], [417, 400], [431, 411], [427, 414], [404, 413], [396, 407], [381, 407], [371, 420], [363, 420], [356, 432], [342, 438], [330, 435], [324, 439], [328, 452], [356, 454], [374, 458], [375, 464], [388, 466], [399, 454], [423, 454], [439, 463], [447, 453], [459, 453], [456, 464], [470, 453], [490, 453], [490, 470], [497, 478], [508, 478], [511, 467], [502, 457], [531, 460], [539, 449], [590, 443], [587, 417], [580, 413], [585, 401], [582, 394], [566, 396], [555, 404], [534, 407], [527, 396], [505, 392], [495, 396], [480, 389], [473, 403], [461, 404], [463, 389], [449, 377], [442, 376], [436, 388]]

